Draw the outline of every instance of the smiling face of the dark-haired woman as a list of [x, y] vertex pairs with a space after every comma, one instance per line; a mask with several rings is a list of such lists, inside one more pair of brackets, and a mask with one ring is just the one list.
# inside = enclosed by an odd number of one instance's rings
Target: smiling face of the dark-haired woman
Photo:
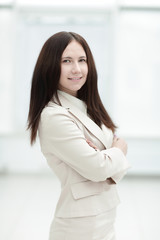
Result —
[[61, 57], [59, 89], [73, 96], [85, 84], [88, 74], [87, 57], [83, 47], [73, 40]]

